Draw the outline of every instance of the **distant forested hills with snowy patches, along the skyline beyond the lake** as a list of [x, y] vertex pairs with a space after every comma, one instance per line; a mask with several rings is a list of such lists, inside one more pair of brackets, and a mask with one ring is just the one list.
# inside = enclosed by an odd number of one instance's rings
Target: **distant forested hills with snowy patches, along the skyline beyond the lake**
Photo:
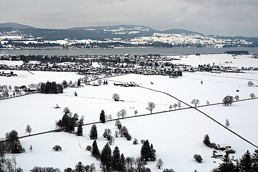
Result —
[[[120, 38], [122, 40], [151, 36], [153, 33], [168, 33], [168, 34], [204, 34], [196, 31], [190, 31], [186, 29], [168, 29], [168, 30], [156, 30], [150, 27], [138, 26], [138, 25], [116, 25], [116, 26], [91, 26], [91, 27], [75, 27], [69, 29], [41, 29], [28, 25], [22, 25], [18, 23], [0, 23], [0, 32], [8, 32], [12, 29], [19, 29], [21, 34], [28, 37], [41, 37], [42, 40], [58, 40], [58, 39], [92, 39], [92, 40], [107, 40], [113, 38]], [[222, 39], [229, 38], [229, 36], [209, 35], [211, 37], [218, 37]], [[235, 39], [249, 39], [258, 42], [258, 38], [250, 38], [244, 36], [235, 36], [230, 38]]]

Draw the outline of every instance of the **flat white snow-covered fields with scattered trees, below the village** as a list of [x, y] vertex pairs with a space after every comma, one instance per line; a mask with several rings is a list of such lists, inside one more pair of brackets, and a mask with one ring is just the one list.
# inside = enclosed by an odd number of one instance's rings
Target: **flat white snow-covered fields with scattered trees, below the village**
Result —
[[[188, 56], [185, 59], [190, 60], [191, 57]], [[218, 59], [226, 60], [223, 57]], [[188, 63], [194, 65], [195, 61], [192, 60]], [[75, 73], [65, 72], [32, 71], [35, 75], [28, 71], [14, 71], [14, 73], [25, 77], [0, 77], [0, 85], [28, 85], [47, 80], [60, 83], [62, 80], [77, 81], [82, 77]], [[143, 87], [164, 91], [188, 104], [194, 98], [200, 100], [200, 105], [205, 105], [206, 100], [211, 104], [220, 103], [227, 95], [238, 95], [240, 99], [246, 99], [249, 98], [250, 93], [258, 95], [258, 87], [247, 86], [247, 82], [250, 80], [257, 85], [258, 74], [184, 72], [183, 76], [177, 79], [168, 76], [129, 74], [109, 78], [107, 86], [66, 88], [63, 94], [32, 94], [0, 100], [0, 137], [4, 137], [6, 132], [13, 129], [16, 129], [20, 136], [24, 136], [25, 127], [28, 124], [32, 127], [31, 134], [53, 130], [56, 128], [55, 121], [63, 115], [64, 107], [69, 107], [71, 112], [77, 113], [79, 117], [84, 115], [85, 123], [89, 123], [99, 121], [101, 110], [104, 110], [106, 115], [111, 114], [115, 118], [116, 112], [121, 109], [127, 111], [127, 116], [134, 116], [135, 110], [138, 110], [138, 115], [148, 114], [149, 111], [145, 109], [148, 102], [156, 104], [154, 113], [169, 111], [169, 105], [177, 102], [164, 93]], [[115, 81], [135, 82], [143, 87], [114, 86]], [[154, 84], [150, 84], [150, 82]], [[239, 92], [236, 92], [237, 89]], [[78, 93], [78, 96], [74, 96], [74, 91]], [[120, 99], [124, 102], [112, 100], [114, 93], [119, 94]], [[61, 109], [53, 108], [57, 103]], [[222, 124], [229, 119], [229, 129], [257, 145], [258, 137], [255, 137], [258, 134], [257, 104], [258, 99], [253, 99], [236, 102], [228, 107], [213, 105], [198, 109]], [[185, 107], [187, 105], [182, 104], [181, 109]], [[120, 152], [125, 156], [139, 157], [142, 146], [140, 141], [148, 139], [157, 150], [157, 159], [161, 158], [164, 162], [162, 170], [172, 168], [175, 172], [194, 172], [194, 170], [209, 172], [212, 168], [217, 167], [222, 161], [211, 158], [213, 149], [202, 143], [205, 134], [210, 136], [211, 142], [231, 144], [232, 149], [236, 150], [235, 158], [239, 158], [247, 149], [251, 152], [255, 149], [254, 146], [241, 140], [195, 109], [121, 119], [120, 121], [123, 126], [127, 127], [132, 138], [139, 140], [139, 144], [134, 145], [133, 141], [126, 141], [125, 138], [119, 137], [115, 138], [115, 144], [111, 145], [111, 149], [118, 146]], [[99, 149], [102, 149], [107, 143], [107, 140], [102, 137], [104, 129], [110, 128], [114, 135], [116, 130], [114, 124], [115, 121], [97, 124]], [[75, 164], [81, 161], [84, 165], [94, 163], [98, 171], [99, 161], [96, 161], [90, 156], [90, 152], [85, 150], [87, 145], [93, 143], [88, 137], [90, 127], [91, 125], [84, 126], [83, 137], [60, 132], [21, 139], [26, 152], [17, 154], [17, 166], [21, 166], [25, 172], [29, 172], [34, 166], [52, 166], [63, 170], [67, 167], [74, 168]], [[33, 146], [32, 152], [29, 151], [30, 144]], [[56, 144], [62, 146], [62, 151], [52, 150]], [[195, 153], [201, 154], [203, 163], [197, 163], [193, 159]], [[13, 154], [6, 156], [11, 157]], [[214, 161], [216, 163], [213, 163]], [[155, 165], [156, 162], [148, 162], [147, 166], [153, 172], [162, 172]]]

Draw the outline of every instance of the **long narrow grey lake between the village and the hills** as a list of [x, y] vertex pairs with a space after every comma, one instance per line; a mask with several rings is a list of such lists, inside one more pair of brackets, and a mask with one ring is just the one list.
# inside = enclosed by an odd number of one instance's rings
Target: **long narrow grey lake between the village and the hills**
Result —
[[226, 51], [244, 50], [258, 54], [258, 48], [195, 48], [195, 47], [144, 47], [144, 48], [115, 48], [115, 49], [22, 49], [0, 50], [0, 55], [148, 55], [160, 54], [163, 56], [191, 55], [191, 54], [223, 54]]

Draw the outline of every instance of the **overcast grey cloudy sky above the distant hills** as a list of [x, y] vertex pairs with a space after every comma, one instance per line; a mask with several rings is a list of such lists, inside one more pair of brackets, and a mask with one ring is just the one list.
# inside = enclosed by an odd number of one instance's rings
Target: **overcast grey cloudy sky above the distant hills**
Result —
[[258, 36], [258, 0], [0, 0], [0, 23], [37, 28], [142, 25]]

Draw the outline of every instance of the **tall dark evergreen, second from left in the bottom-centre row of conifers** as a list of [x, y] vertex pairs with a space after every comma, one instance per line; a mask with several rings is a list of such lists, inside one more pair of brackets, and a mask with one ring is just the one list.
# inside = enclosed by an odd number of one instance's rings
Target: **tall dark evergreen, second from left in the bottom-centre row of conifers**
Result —
[[103, 171], [110, 171], [112, 166], [112, 152], [109, 144], [107, 143], [101, 151], [100, 161], [103, 165]]

